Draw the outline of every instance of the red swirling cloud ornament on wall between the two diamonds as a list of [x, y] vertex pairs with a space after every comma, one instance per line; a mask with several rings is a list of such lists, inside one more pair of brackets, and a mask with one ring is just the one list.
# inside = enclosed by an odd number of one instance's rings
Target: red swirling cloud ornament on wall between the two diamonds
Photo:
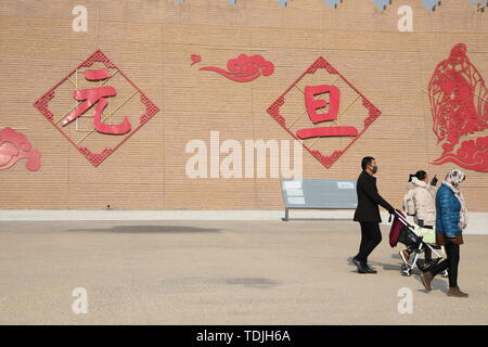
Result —
[[261, 75], [270, 76], [274, 73], [274, 64], [265, 60], [261, 55], [247, 56], [241, 54], [228, 61], [227, 68], [228, 70], [216, 66], [204, 66], [200, 69], [216, 72], [236, 82], [249, 82]]

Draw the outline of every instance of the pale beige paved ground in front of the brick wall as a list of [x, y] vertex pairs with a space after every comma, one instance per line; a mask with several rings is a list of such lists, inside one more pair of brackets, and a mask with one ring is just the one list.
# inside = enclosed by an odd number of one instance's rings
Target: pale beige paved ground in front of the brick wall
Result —
[[[487, 324], [488, 236], [466, 235], [461, 288], [425, 293], [398, 248], [348, 258], [349, 221], [0, 222], [0, 324]], [[75, 314], [72, 291], [88, 292]], [[412, 291], [400, 314], [398, 291]]]

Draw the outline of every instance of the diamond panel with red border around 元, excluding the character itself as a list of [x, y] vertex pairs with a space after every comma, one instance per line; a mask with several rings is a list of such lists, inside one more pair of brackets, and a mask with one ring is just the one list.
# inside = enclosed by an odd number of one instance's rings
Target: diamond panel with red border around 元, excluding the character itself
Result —
[[[82, 78], [78, 78], [79, 74], [90, 69], [91, 67], [106, 68], [106, 70], [111, 73], [111, 77], [103, 82], [93, 82], [92, 80], [87, 81]], [[117, 98], [124, 101], [119, 102], [118, 105], [115, 105], [114, 107], [116, 107], [116, 110], [113, 113], [108, 112], [108, 116], [105, 116], [104, 113], [102, 115], [105, 117], [105, 120], [108, 119], [108, 121], [112, 121], [112, 117], [117, 117], [116, 113], [118, 110], [124, 112], [124, 106], [132, 103], [129, 107], [132, 110], [140, 108], [140, 111], [136, 114], [131, 113], [127, 115], [127, 118], [130, 119], [131, 124], [130, 131], [127, 131], [124, 134], [106, 134], [98, 132], [92, 127], [84, 131], [79, 130], [78, 121], [81, 121], [82, 118], [90, 116], [92, 110], [95, 108], [91, 106], [91, 108], [87, 110], [86, 114], [79, 116], [76, 121], [62, 126], [62, 120], [66, 119], [66, 116], [68, 116], [73, 110], [81, 104], [81, 102], [77, 103], [77, 100], [72, 95], [73, 92], [81, 89], [79, 85], [85, 83], [87, 87], [100, 88], [102, 85], [111, 85], [112, 82], [107, 82], [115, 78], [119, 80], [120, 89], [124, 91], [119, 94], [119, 91], [117, 90], [117, 94], [110, 98], [108, 105], [112, 107], [111, 103], [116, 102]], [[125, 97], [124, 93], [126, 93]], [[55, 95], [59, 97], [54, 98]], [[137, 101], [137, 98], [134, 97], [139, 97], [140, 104], [133, 104], [133, 101]], [[61, 99], [59, 104], [53, 105], [53, 102], [59, 99]], [[74, 104], [73, 107], [70, 107], [72, 104]], [[34, 106], [38, 108], [46, 119], [48, 119], [64, 137], [66, 137], [66, 139], [95, 167], [105, 160], [136, 131], [138, 131], [156, 113], [159, 112], [159, 108], [101, 50], [97, 50], [53, 88], [48, 90], [34, 103]], [[104, 112], [111, 110], [110, 107], [106, 108], [108, 110], [105, 110]], [[91, 139], [93, 142], [92, 145], [84, 144], [84, 142], [87, 142], [88, 139]]]

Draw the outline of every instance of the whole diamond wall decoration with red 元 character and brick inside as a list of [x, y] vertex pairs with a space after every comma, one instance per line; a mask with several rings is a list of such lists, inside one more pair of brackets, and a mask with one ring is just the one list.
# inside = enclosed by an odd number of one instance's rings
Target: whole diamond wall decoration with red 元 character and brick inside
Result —
[[[115, 83], [117, 89], [111, 83]], [[59, 97], [54, 98], [56, 93]], [[66, 100], [68, 94], [72, 97]], [[67, 101], [74, 103], [70, 110], [66, 110]], [[112, 106], [115, 102], [117, 104]], [[120, 119], [117, 112], [134, 102], [140, 103], [141, 114], [123, 115]], [[95, 167], [159, 111], [100, 50], [81, 62], [34, 105]], [[92, 107], [92, 116], [86, 115]], [[85, 130], [84, 118], [92, 118]]]

